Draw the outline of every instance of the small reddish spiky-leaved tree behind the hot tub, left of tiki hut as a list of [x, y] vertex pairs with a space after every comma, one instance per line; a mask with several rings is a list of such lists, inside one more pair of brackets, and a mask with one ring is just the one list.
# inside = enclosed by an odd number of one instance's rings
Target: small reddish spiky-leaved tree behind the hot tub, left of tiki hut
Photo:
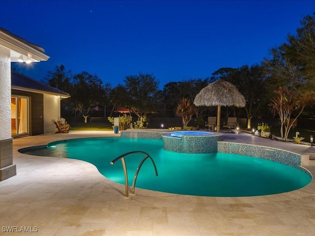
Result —
[[176, 115], [183, 120], [183, 128], [187, 127], [188, 122], [194, 114], [196, 114], [196, 106], [188, 98], [182, 98], [176, 108]]

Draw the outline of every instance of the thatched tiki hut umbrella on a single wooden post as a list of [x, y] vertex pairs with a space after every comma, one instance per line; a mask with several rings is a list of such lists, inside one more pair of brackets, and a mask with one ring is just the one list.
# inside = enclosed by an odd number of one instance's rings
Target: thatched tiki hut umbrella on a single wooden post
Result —
[[224, 80], [218, 80], [201, 89], [193, 104], [196, 106], [218, 106], [217, 132], [220, 132], [221, 106], [245, 107], [245, 97], [235, 85]]

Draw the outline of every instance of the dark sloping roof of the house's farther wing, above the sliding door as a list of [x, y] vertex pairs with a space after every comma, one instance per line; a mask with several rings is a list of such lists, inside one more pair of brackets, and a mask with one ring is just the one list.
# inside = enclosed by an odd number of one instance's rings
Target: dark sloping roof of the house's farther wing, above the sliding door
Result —
[[25, 90], [37, 93], [48, 93], [53, 95], [60, 95], [62, 97], [70, 97], [69, 93], [53, 88], [49, 85], [41, 83], [25, 75], [11, 71], [11, 88], [18, 90]]

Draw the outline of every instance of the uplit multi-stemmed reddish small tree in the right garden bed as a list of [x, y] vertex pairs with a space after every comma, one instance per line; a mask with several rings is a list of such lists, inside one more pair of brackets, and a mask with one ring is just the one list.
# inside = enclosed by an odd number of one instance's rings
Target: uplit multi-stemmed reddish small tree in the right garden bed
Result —
[[[295, 124], [297, 118], [301, 115], [304, 108], [314, 101], [314, 94], [299, 93], [287, 87], [274, 91], [276, 96], [271, 100], [269, 106], [274, 113], [278, 113], [281, 121], [281, 138], [287, 141], [287, 136]], [[291, 118], [293, 112], [295, 118]]]

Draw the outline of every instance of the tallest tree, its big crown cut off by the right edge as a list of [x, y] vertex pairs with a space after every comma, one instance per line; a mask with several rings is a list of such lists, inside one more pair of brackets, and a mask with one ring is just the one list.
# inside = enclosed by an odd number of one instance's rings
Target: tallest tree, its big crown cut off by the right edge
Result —
[[315, 88], [315, 13], [301, 20], [295, 35], [288, 35], [287, 43], [270, 50], [265, 59], [266, 84], [270, 91], [288, 87], [298, 90]]

